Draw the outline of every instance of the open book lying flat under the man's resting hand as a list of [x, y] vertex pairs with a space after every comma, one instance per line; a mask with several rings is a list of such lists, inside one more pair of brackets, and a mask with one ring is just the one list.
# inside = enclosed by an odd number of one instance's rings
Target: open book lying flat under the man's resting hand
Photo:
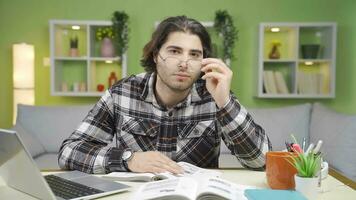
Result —
[[178, 162], [183, 168], [183, 174], [172, 174], [170, 172], [164, 173], [135, 173], [135, 172], [111, 172], [109, 174], [103, 175], [102, 178], [113, 180], [113, 181], [158, 181], [164, 179], [172, 179], [178, 177], [219, 177], [221, 172], [203, 169], [192, 165], [187, 162]]

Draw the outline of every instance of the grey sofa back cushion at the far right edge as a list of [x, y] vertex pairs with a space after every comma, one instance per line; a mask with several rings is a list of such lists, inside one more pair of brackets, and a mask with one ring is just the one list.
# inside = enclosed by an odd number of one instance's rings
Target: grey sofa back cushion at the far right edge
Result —
[[319, 103], [313, 105], [310, 139], [323, 141], [323, 158], [336, 170], [356, 181], [356, 115], [332, 111]]

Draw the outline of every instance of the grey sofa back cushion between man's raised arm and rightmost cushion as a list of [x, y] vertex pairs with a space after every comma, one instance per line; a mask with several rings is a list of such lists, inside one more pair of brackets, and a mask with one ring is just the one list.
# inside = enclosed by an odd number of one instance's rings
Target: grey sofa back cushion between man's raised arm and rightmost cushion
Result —
[[285, 141], [292, 141], [293, 134], [298, 142], [303, 137], [309, 139], [311, 104], [301, 104], [282, 108], [248, 109], [257, 124], [262, 126], [274, 151], [286, 148]]

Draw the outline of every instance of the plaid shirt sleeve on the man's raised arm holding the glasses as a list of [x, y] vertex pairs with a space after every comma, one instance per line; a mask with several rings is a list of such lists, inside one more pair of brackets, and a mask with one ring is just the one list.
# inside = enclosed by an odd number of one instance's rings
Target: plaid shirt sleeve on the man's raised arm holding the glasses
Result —
[[256, 124], [247, 110], [231, 94], [217, 112], [222, 139], [240, 163], [249, 169], [263, 170], [265, 154], [272, 149], [264, 129]]

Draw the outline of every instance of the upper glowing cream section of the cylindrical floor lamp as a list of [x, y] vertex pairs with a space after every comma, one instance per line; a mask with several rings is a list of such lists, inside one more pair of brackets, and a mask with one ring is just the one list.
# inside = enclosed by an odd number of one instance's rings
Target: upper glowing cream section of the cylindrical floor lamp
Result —
[[14, 88], [34, 88], [35, 50], [33, 45], [21, 43], [13, 45]]

